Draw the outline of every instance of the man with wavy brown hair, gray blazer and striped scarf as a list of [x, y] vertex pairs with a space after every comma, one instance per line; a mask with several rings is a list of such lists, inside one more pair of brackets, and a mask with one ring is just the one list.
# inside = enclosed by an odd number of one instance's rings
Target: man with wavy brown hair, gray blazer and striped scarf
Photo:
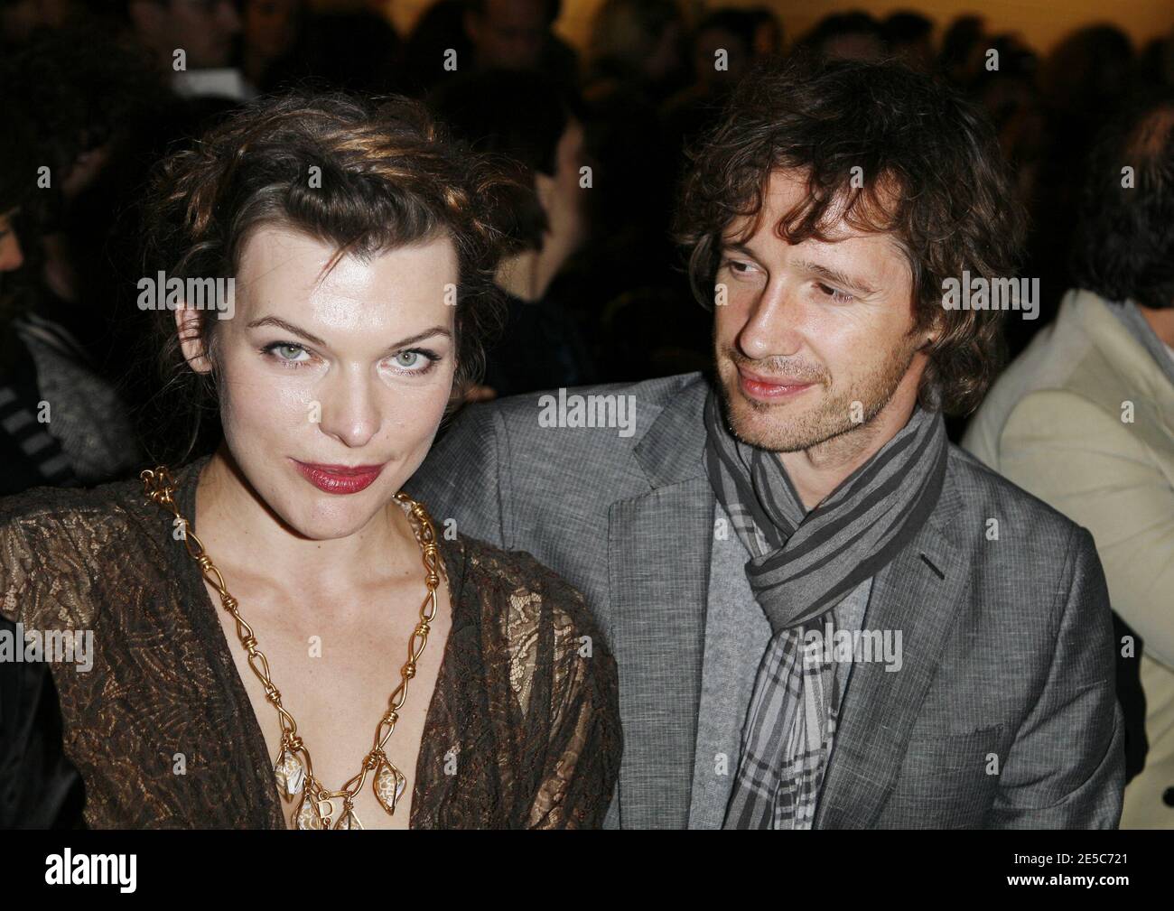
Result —
[[620, 672], [608, 824], [1115, 826], [1092, 537], [945, 431], [1019, 303], [989, 293], [1023, 237], [990, 124], [898, 65], [799, 59], [690, 157], [715, 376], [473, 406], [412, 479], [586, 594]]

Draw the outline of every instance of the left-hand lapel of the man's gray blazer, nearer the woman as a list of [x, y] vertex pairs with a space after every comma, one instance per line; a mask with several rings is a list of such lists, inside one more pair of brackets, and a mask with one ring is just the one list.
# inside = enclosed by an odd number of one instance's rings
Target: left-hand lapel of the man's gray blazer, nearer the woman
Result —
[[714, 515], [702, 463], [707, 390], [697, 380], [666, 406], [635, 448], [650, 490], [608, 513], [626, 829], [688, 825]]

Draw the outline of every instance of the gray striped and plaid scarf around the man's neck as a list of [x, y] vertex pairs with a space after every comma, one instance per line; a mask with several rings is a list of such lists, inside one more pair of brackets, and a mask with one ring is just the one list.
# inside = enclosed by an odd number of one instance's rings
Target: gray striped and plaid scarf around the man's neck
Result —
[[753, 555], [745, 574], [774, 635], [742, 731], [727, 829], [809, 829], [839, 715], [839, 687], [810, 629], [885, 567], [937, 505], [949, 440], [937, 411], [909, 423], [807, 512], [782, 459], [736, 439], [706, 401], [706, 470]]

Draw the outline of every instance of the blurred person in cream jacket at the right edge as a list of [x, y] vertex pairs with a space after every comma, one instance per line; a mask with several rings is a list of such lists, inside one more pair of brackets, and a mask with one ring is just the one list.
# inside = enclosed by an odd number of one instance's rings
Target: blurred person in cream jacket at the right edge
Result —
[[1074, 245], [1077, 286], [963, 440], [1092, 532], [1113, 610], [1141, 640], [1148, 754], [1126, 788], [1122, 829], [1174, 829], [1172, 225], [1166, 96], [1133, 106], [1098, 143]]

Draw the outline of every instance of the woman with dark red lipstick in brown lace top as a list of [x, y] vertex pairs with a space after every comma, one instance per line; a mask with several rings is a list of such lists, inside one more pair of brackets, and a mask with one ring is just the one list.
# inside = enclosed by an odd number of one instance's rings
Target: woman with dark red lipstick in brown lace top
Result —
[[507, 190], [398, 97], [262, 100], [161, 162], [157, 460], [0, 500], [89, 826], [602, 822], [616, 674], [581, 595], [403, 493], [477, 380]]

